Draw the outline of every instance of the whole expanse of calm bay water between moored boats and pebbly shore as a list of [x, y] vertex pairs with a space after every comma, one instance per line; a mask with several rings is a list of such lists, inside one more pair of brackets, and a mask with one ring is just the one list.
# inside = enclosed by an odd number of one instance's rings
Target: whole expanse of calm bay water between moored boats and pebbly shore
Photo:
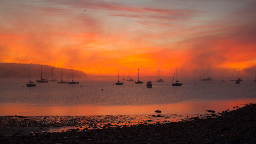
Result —
[[[0, 115], [132, 115], [199, 114], [217, 112], [256, 102], [256, 82], [155, 82], [153, 88], [125, 82], [86, 82], [78, 85], [54, 82], [26, 87], [24, 82], [0, 84]], [[102, 91], [103, 89], [103, 91]]]

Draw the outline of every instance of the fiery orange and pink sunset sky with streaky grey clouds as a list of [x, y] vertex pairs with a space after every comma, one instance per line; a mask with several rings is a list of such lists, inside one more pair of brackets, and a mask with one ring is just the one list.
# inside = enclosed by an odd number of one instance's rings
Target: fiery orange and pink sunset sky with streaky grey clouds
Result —
[[0, 62], [88, 74], [256, 73], [255, 0], [1, 0]]

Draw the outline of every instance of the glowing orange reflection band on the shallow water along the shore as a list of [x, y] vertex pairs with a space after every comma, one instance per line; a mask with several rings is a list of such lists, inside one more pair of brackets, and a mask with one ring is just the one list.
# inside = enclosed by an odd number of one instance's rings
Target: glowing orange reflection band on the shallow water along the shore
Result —
[[1, 104], [0, 115], [20, 116], [96, 116], [96, 115], [134, 115], [155, 114], [204, 114], [205, 110], [216, 113], [232, 109], [234, 106], [255, 103], [256, 99], [238, 100], [188, 100], [172, 104], [154, 104], [144, 106], [37, 106], [36, 104]]

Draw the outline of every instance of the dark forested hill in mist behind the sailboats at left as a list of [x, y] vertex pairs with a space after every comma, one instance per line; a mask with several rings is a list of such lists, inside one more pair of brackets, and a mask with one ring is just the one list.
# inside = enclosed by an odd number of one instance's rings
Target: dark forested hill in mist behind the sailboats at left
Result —
[[[0, 63], [0, 78], [29, 78], [29, 65], [18, 63]], [[53, 67], [53, 78], [60, 80], [61, 70], [63, 70], [62, 79], [67, 80], [71, 69]], [[41, 78], [41, 64], [31, 64], [31, 79]], [[40, 73], [40, 74], [39, 74]], [[38, 76], [39, 74], [39, 76]], [[43, 78], [52, 79], [52, 66], [43, 65]], [[87, 74], [73, 70], [73, 79], [86, 78]], [[71, 76], [70, 76], [71, 78]]]

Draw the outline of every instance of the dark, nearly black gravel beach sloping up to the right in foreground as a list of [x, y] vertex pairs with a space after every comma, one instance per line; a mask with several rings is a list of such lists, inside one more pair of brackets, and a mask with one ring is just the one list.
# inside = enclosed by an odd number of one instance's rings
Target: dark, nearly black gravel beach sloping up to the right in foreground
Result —
[[78, 144], [255, 144], [256, 104], [225, 111], [206, 119], [190, 118], [165, 124], [139, 124], [67, 132], [41, 132], [0, 136], [1, 144], [78, 143]]

